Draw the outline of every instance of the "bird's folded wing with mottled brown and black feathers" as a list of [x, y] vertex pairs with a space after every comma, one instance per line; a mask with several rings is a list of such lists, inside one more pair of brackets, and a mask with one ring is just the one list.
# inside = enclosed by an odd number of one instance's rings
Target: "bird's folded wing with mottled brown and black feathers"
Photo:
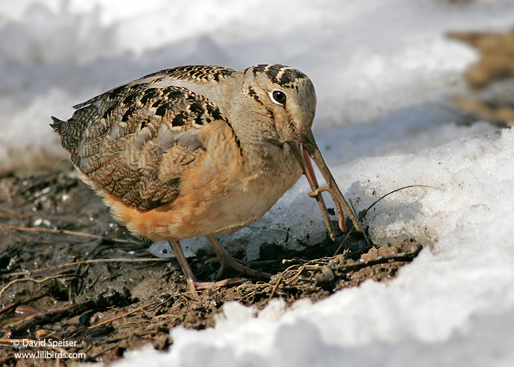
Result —
[[230, 126], [202, 95], [160, 85], [119, 86], [77, 105], [68, 121], [54, 118], [52, 125], [94, 189], [140, 211], [178, 198], [182, 173], [205, 154], [201, 132], [208, 123], [221, 120]]

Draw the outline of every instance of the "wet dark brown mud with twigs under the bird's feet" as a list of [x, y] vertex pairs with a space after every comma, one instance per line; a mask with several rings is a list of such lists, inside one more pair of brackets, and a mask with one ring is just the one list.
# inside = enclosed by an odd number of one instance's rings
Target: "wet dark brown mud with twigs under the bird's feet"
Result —
[[[0, 364], [109, 362], [148, 343], [166, 350], [173, 348], [171, 328], [213, 327], [228, 301], [258, 309], [271, 298], [287, 305], [300, 298], [316, 302], [367, 279], [389, 281], [421, 250], [413, 239], [376, 248], [352, 234], [343, 253], [333, 256], [340, 235], [302, 251], [262, 244], [262, 262], [253, 266], [275, 274], [271, 281], [249, 279], [195, 296], [178, 263], [152, 257], [149, 243], [116, 224], [71, 171], [0, 178]], [[215, 276], [217, 264], [204, 265], [212, 255], [200, 250], [189, 259], [201, 280]], [[15, 357], [38, 351], [47, 357]], [[56, 358], [49, 352], [82, 354]]]

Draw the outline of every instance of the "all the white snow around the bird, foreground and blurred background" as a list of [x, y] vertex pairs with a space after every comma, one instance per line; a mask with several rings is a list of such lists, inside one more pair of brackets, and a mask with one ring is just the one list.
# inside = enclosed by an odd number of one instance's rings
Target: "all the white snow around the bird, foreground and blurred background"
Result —
[[[73, 104], [180, 64], [290, 64], [317, 89], [315, 134], [379, 243], [426, 247], [393, 281], [315, 305], [223, 307], [214, 329], [171, 331], [115, 366], [511, 366], [514, 133], [452, 108], [474, 51], [455, 30], [514, 25], [509, 0], [0, 2], [0, 173], [57, 167], [48, 127]], [[258, 222], [221, 239], [323, 237], [304, 179]], [[202, 240], [186, 241], [195, 248]]]

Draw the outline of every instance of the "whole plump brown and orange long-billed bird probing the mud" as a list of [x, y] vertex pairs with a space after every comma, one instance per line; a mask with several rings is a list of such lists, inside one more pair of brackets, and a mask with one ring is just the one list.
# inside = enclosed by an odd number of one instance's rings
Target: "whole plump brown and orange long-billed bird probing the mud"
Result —
[[[167, 240], [192, 292], [228, 285], [228, 268], [269, 278], [234, 259], [215, 236], [258, 220], [304, 174], [330, 237], [321, 192], [360, 230], [316, 145], [316, 94], [307, 75], [282, 64], [236, 71], [187, 65], [145, 75], [73, 106], [51, 128], [80, 179], [103, 198], [130, 233]], [[319, 187], [311, 158], [327, 185]], [[221, 268], [197, 280], [180, 240], [205, 236]]]

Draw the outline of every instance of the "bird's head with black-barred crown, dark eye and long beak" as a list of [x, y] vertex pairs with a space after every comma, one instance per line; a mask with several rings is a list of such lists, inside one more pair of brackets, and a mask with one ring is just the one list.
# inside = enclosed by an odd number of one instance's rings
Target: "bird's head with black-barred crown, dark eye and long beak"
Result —
[[[258, 121], [258, 134], [262, 141], [289, 149], [297, 158], [311, 189], [317, 193], [315, 197], [319, 202], [331, 237], [334, 236], [334, 232], [323, 198], [321, 198], [321, 191], [329, 191], [334, 199], [339, 212], [341, 229], [345, 229], [342, 211], [344, 208], [347, 213], [350, 213], [356, 228], [360, 230], [358, 220], [345, 202], [314, 139], [311, 126], [316, 110], [316, 93], [308, 76], [297, 69], [280, 64], [261, 64], [249, 67], [243, 71], [243, 75], [240, 92], [245, 98], [254, 99], [252, 115], [256, 118], [255, 121], [246, 121], [246, 123], [252, 125]], [[247, 128], [252, 129], [248, 125]], [[323, 189], [319, 189], [311, 158], [327, 182], [328, 186]]]

